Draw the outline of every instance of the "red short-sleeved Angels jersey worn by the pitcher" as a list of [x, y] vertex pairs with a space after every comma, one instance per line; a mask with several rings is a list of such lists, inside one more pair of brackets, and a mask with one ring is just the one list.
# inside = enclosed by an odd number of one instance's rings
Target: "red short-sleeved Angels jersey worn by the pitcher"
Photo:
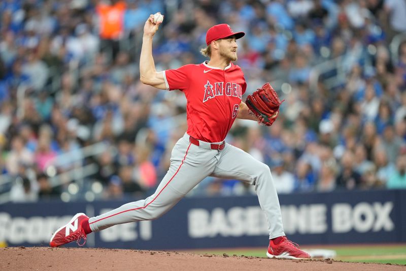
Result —
[[186, 96], [187, 133], [206, 142], [223, 141], [247, 88], [241, 68], [230, 63], [222, 70], [205, 62], [166, 70], [163, 77], [168, 90]]

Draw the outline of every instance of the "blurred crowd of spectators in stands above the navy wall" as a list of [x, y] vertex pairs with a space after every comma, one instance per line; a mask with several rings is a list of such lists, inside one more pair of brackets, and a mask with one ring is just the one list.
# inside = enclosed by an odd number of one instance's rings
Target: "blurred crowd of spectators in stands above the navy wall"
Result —
[[[186, 100], [139, 80], [143, 26], [160, 11], [158, 71], [201, 63], [208, 28], [244, 31], [247, 92], [271, 82], [272, 127], [226, 141], [272, 170], [279, 193], [406, 188], [404, 0], [3, 0], [0, 196], [145, 197], [186, 131]], [[245, 97], [243, 97], [243, 100]], [[208, 177], [190, 196], [255, 193]]]

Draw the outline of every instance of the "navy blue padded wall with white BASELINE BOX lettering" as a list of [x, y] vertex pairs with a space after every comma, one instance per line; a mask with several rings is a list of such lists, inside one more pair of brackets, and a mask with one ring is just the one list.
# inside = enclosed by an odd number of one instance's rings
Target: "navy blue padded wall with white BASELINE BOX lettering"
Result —
[[[0, 205], [0, 242], [47, 246], [51, 233], [84, 212], [99, 215], [127, 201]], [[280, 195], [285, 233], [294, 242], [406, 242], [406, 190]], [[154, 221], [117, 225], [88, 235], [87, 247], [192, 249], [267, 246], [255, 196], [185, 198]]]

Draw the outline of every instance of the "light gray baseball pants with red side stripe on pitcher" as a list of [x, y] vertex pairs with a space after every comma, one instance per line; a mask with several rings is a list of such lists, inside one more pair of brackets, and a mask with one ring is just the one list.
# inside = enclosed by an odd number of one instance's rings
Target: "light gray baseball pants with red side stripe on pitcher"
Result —
[[254, 185], [268, 221], [269, 238], [285, 235], [269, 167], [228, 143], [222, 150], [211, 149], [210, 143], [200, 140], [199, 146], [194, 145], [187, 134], [175, 144], [171, 166], [153, 195], [90, 218], [90, 229], [99, 231], [117, 224], [157, 219], [207, 176], [239, 179]]

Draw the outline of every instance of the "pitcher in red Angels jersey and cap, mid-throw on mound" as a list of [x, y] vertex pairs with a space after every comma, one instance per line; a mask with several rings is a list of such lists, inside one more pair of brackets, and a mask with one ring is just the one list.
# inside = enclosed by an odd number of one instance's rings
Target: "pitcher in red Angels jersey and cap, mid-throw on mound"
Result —
[[248, 96], [246, 103], [242, 102], [247, 84], [241, 68], [232, 62], [237, 59], [236, 40], [245, 34], [233, 32], [227, 24], [214, 25], [206, 34], [207, 47], [201, 50], [209, 61], [157, 72], [152, 40], [163, 19], [159, 15], [150, 15], [145, 22], [140, 77], [144, 84], [167, 91], [179, 89], [185, 94], [187, 132], [174, 146], [170, 168], [153, 195], [96, 217], [88, 218], [79, 213], [52, 235], [50, 246], [58, 247], [73, 241], [83, 245], [86, 235], [91, 232], [159, 218], [202, 179], [215, 176], [239, 179], [255, 186], [269, 226], [268, 257], [309, 258], [308, 253], [285, 236], [269, 167], [224, 141], [235, 118], [270, 126], [278, 117], [282, 103], [268, 83]]

